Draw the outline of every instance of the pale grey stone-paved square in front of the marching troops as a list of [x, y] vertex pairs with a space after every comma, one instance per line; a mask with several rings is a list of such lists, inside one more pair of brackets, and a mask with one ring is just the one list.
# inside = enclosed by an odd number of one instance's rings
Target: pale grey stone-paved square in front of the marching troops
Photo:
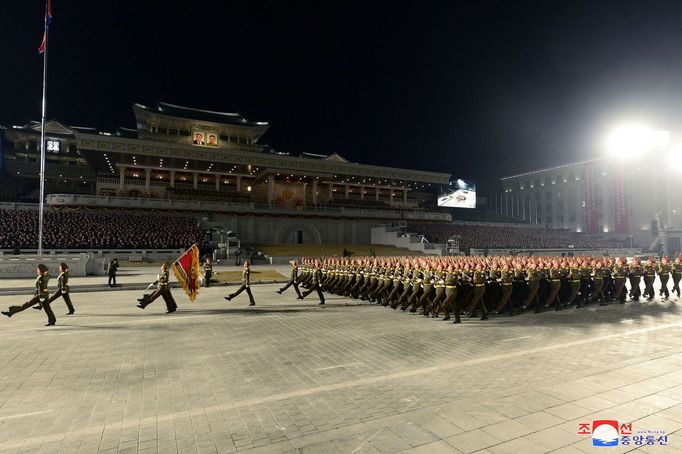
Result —
[[456, 326], [276, 288], [0, 318], [0, 452], [600, 452], [577, 433], [596, 419], [668, 435], [606, 452], [682, 452], [682, 301]]

